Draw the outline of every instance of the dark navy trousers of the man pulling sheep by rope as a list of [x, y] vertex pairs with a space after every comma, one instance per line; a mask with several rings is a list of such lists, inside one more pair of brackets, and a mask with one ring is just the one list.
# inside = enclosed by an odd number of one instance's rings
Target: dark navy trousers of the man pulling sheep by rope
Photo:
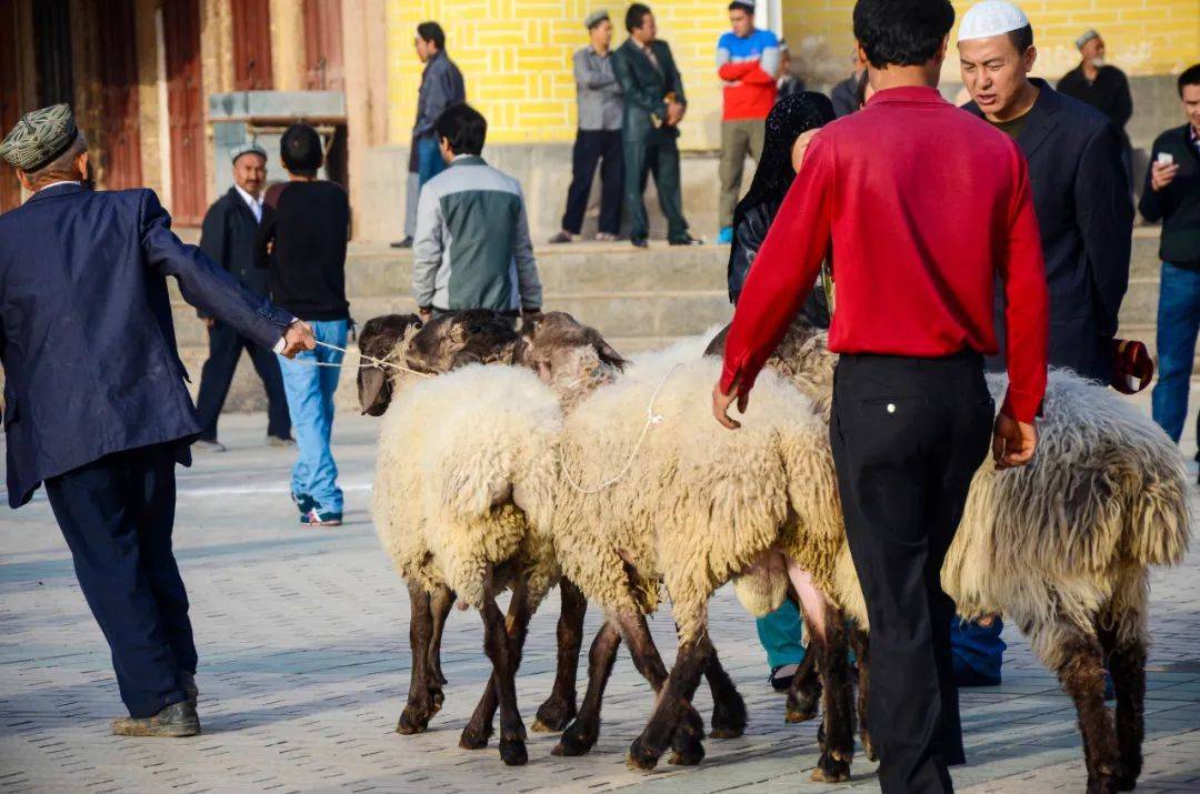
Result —
[[175, 565], [175, 449], [118, 452], [46, 481], [79, 589], [113, 652], [130, 715], [187, 699], [196, 673], [187, 591]]

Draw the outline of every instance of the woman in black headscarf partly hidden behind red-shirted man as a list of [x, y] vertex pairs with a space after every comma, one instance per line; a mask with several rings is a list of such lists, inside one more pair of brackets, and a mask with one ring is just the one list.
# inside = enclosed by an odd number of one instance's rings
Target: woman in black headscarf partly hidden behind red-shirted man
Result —
[[[732, 302], [738, 302], [755, 254], [767, 239], [779, 205], [784, 203], [784, 197], [796, 179], [796, 168], [800, 164], [803, 149], [810, 138], [805, 133], [833, 119], [833, 103], [821, 94], [808, 91], [781, 98], [767, 116], [767, 137], [758, 170], [755, 172], [750, 191], [733, 211], [733, 246], [730, 249], [728, 270]], [[804, 317], [820, 327], [829, 327], [824, 290], [812, 290], [804, 305]], [[770, 685], [780, 692], [787, 691], [804, 660], [800, 613], [791, 601], [784, 601], [779, 609], [757, 620], [757, 628], [758, 642], [767, 651]]]

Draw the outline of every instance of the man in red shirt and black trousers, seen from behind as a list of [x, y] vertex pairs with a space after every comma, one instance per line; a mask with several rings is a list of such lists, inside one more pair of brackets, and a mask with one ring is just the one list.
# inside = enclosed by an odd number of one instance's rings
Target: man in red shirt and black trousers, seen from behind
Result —
[[[937, 92], [948, 0], [858, 0], [854, 37], [876, 90], [812, 140], [755, 259], [713, 393], [737, 427], [750, 389], [832, 249], [829, 348], [841, 354], [829, 438], [871, 624], [870, 726], [884, 792], [953, 790], [962, 763], [940, 572], [988, 452], [1022, 465], [1046, 381], [1048, 297], [1025, 158]], [[1000, 416], [983, 374], [1008, 308]]]

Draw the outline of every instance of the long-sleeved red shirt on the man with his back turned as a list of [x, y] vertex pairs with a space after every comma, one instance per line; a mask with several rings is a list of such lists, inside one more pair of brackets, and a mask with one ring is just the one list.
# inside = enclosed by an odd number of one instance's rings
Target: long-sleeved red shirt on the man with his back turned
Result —
[[745, 392], [830, 251], [834, 353], [994, 354], [1007, 297], [1003, 411], [1031, 422], [1045, 392], [1049, 297], [1025, 157], [931, 88], [880, 91], [804, 156], [738, 301], [721, 389]]

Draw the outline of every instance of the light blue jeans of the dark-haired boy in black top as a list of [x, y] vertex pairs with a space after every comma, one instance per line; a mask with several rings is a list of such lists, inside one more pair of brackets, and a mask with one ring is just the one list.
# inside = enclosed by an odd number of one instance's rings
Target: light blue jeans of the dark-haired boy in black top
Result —
[[[349, 320], [311, 320], [308, 325], [318, 342], [346, 347]], [[323, 515], [341, 513], [342, 489], [337, 487], [337, 464], [329, 449], [329, 438], [334, 429], [334, 392], [342, 371], [313, 366], [317, 362], [341, 363], [342, 353], [318, 345], [316, 350], [299, 354], [294, 361], [280, 356], [292, 432], [300, 452], [292, 468], [292, 493], [310, 497]]]

